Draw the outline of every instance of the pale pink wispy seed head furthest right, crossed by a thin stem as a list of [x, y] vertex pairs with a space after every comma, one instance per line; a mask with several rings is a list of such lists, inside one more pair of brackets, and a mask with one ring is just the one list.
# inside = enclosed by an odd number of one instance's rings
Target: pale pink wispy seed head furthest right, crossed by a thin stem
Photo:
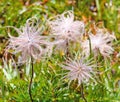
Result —
[[109, 57], [113, 53], [112, 41], [115, 39], [114, 34], [110, 34], [103, 29], [97, 29], [96, 34], [89, 34], [90, 41], [87, 39], [83, 41], [82, 48], [86, 56], [90, 55], [90, 44], [91, 50], [94, 55], [100, 54], [104, 57]]

